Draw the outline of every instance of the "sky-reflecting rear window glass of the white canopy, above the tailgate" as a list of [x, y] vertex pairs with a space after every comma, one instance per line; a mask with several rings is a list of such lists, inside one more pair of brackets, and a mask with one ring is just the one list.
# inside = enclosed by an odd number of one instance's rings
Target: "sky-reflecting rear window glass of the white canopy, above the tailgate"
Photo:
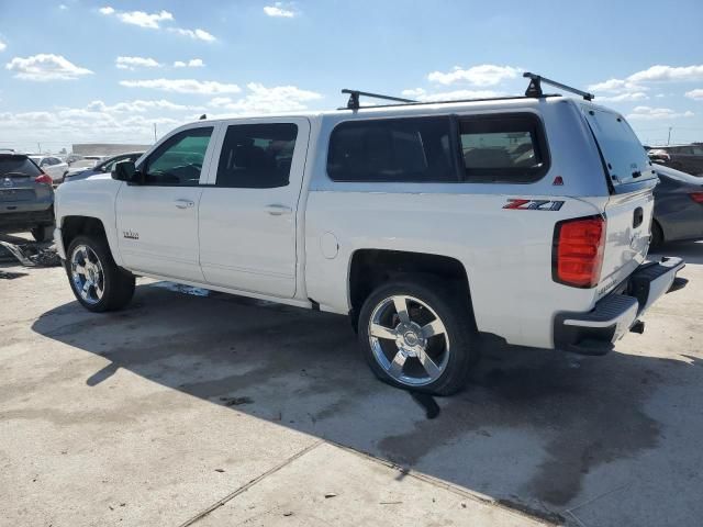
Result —
[[656, 178], [645, 147], [616, 113], [587, 109], [585, 116], [599, 144], [613, 187]]

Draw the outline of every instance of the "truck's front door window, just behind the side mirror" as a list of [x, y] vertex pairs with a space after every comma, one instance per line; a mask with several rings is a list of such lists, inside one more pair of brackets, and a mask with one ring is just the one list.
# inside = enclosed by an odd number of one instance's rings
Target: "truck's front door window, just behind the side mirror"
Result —
[[212, 130], [212, 126], [186, 130], [166, 141], [146, 160], [144, 183], [198, 184]]

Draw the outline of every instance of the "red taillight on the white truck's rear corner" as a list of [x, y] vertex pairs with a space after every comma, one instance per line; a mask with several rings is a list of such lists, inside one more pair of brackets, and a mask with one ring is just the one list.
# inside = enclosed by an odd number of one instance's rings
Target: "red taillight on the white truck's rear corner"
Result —
[[601, 216], [567, 220], [555, 232], [551, 274], [560, 283], [592, 288], [601, 279], [605, 220]]

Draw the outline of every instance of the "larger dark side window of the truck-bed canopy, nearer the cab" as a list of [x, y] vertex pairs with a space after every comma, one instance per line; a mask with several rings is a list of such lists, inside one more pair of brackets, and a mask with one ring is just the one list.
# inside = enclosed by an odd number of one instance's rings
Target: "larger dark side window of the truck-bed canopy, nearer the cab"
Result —
[[457, 181], [449, 117], [347, 121], [330, 137], [334, 181]]

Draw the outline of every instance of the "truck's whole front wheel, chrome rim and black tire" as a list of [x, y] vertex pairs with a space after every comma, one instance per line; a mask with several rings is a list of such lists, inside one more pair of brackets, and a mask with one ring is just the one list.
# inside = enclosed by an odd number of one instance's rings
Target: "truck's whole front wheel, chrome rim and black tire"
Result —
[[134, 276], [120, 269], [105, 239], [77, 236], [68, 246], [66, 273], [76, 300], [100, 313], [124, 307], [134, 294]]

